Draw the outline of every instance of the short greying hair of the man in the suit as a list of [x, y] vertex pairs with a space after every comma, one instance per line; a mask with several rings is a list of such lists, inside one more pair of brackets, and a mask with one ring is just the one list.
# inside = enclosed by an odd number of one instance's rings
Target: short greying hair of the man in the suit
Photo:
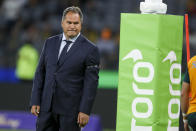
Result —
[[81, 23], [83, 22], [83, 14], [82, 11], [79, 7], [75, 7], [75, 6], [71, 6], [71, 7], [67, 7], [64, 11], [63, 11], [63, 16], [62, 16], [62, 21], [65, 19], [67, 13], [69, 12], [73, 12], [73, 13], [77, 13], [80, 16], [80, 21]]

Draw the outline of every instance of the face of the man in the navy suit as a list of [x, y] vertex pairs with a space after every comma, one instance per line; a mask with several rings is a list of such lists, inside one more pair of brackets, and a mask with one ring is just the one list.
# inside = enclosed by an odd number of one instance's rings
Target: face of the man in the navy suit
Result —
[[68, 12], [65, 19], [61, 22], [61, 26], [67, 39], [77, 36], [82, 27], [80, 15]]

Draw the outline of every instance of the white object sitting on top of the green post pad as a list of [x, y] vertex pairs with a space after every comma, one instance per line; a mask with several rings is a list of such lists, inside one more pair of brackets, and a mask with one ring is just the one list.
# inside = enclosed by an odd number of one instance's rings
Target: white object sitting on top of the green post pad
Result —
[[140, 2], [140, 11], [142, 14], [166, 14], [167, 5], [162, 0], [145, 0]]

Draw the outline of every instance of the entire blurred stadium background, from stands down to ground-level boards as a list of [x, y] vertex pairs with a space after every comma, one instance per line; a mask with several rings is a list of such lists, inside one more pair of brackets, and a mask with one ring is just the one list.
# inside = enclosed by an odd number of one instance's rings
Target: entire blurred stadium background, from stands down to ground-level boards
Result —
[[[17, 126], [23, 119], [17, 117], [29, 114], [32, 71], [44, 40], [62, 32], [62, 12], [72, 5], [82, 9], [82, 33], [97, 44], [101, 53], [99, 89], [92, 114], [104, 131], [115, 131], [120, 13], [140, 13], [141, 1], [144, 0], [0, 0], [0, 131], [28, 131]], [[196, 1], [163, 2], [168, 5], [167, 14], [189, 14], [190, 51], [191, 56], [195, 55]], [[184, 73], [185, 39], [182, 57]], [[28, 64], [29, 68], [22, 68]], [[25, 76], [23, 73], [27, 72], [29, 75]], [[34, 120], [32, 116], [29, 119]]]

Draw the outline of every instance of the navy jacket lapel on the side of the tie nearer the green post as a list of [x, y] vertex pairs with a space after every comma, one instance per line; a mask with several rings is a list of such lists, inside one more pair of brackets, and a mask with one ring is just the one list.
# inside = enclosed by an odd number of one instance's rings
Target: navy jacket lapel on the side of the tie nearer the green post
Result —
[[80, 35], [77, 40], [74, 42], [74, 44], [71, 46], [70, 50], [68, 51], [68, 53], [66, 54], [66, 56], [63, 57], [63, 62], [60, 63], [59, 66], [62, 66], [65, 61], [71, 56], [73, 55], [77, 49], [79, 49], [79, 46], [81, 46], [81, 41], [82, 41], [82, 36]]

